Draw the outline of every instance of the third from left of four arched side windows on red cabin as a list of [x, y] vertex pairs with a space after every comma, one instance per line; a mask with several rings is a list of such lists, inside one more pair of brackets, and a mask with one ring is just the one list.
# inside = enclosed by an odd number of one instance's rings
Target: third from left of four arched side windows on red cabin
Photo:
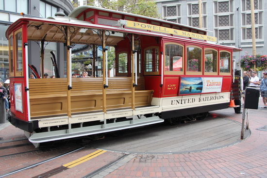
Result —
[[213, 49], [205, 49], [205, 72], [217, 72], [218, 52]]

